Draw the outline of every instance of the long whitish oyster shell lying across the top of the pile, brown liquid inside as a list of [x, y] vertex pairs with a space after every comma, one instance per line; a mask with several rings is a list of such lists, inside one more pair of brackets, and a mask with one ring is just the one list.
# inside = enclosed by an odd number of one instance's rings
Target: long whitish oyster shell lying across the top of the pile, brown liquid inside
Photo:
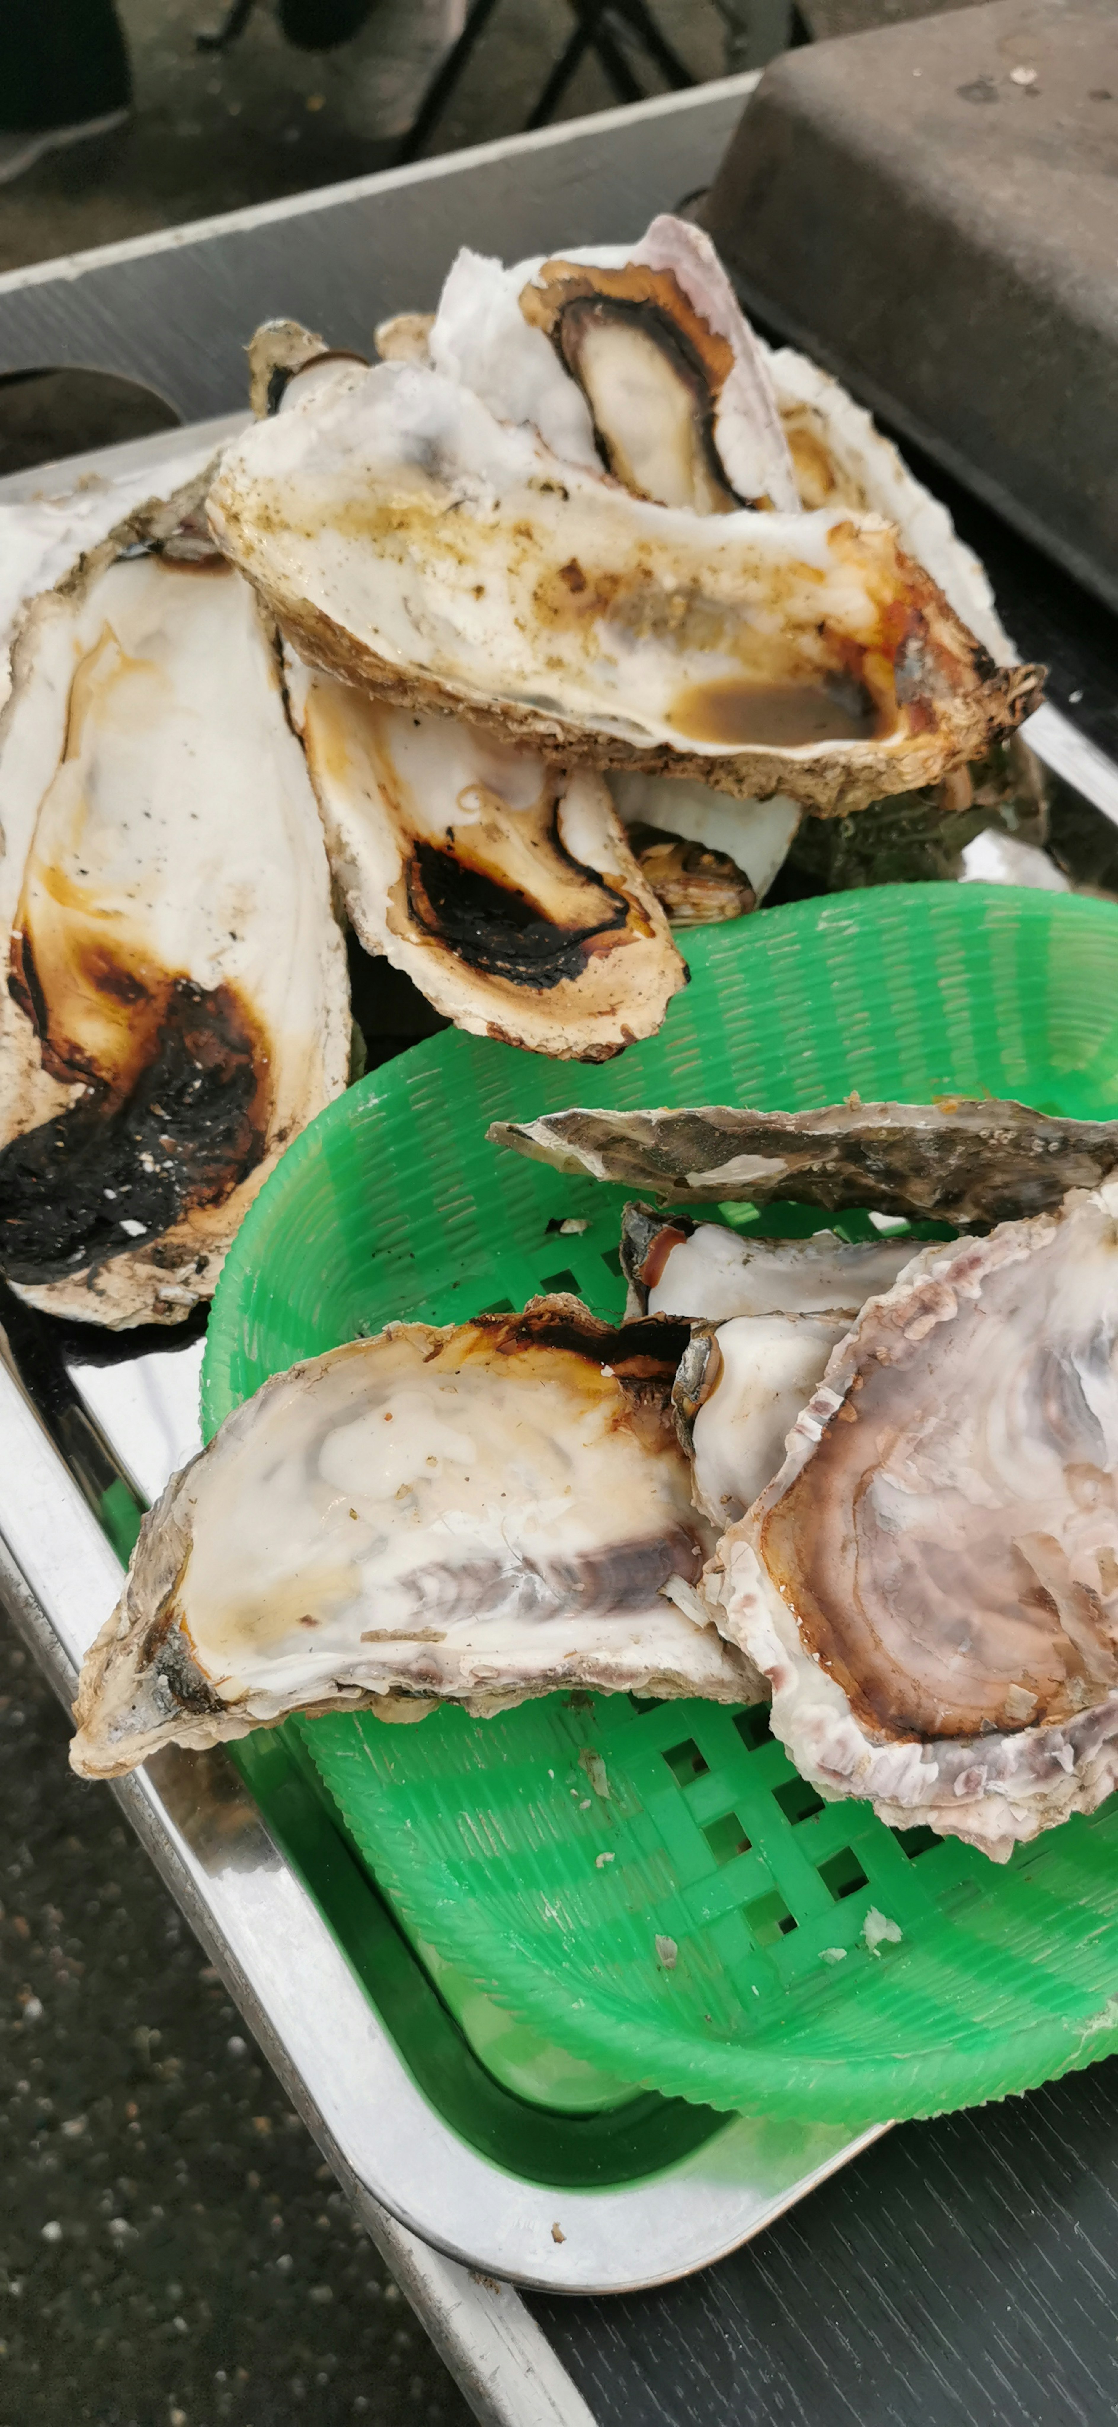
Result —
[[551, 755], [839, 811], [1038, 697], [878, 519], [645, 505], [417, 364], [257, 422], [209, 512], [303, 660]]

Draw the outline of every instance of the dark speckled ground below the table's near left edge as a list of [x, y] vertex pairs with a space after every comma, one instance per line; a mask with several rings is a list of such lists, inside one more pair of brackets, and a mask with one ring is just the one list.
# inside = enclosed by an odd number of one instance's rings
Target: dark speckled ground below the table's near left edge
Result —
[[0, 1621], [0, 2427], [466, 2427]]

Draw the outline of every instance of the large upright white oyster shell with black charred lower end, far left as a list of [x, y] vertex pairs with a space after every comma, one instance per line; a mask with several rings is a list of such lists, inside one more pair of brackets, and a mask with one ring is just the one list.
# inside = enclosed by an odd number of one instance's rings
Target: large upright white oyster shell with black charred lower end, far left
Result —
[[0, 1269], [116, 1328], [211, 1296], [349, 1063], [274, 631], [211, 549], [204, 488], [34, 602], [0, 738]]

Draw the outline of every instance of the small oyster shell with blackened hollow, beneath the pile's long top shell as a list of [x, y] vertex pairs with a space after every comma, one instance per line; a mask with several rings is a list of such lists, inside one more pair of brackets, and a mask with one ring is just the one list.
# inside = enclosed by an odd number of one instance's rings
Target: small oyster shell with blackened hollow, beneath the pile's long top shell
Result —
[[475, 1036], [606, 1061], [686, 966], [594, 769], [451, 716], [291, 684], [335, 883], [366, 951]]

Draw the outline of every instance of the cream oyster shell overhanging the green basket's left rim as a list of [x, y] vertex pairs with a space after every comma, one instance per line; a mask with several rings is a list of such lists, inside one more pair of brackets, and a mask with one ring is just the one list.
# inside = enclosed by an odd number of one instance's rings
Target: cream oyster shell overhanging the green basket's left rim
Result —
[[82, 1667], [75, 1769], [400, 1694], [745, 1699], [694, 1592], [713, 1536], [669, 1417], [681, 1345], [536, 1298], [276, 1374], [146, 1517]]

